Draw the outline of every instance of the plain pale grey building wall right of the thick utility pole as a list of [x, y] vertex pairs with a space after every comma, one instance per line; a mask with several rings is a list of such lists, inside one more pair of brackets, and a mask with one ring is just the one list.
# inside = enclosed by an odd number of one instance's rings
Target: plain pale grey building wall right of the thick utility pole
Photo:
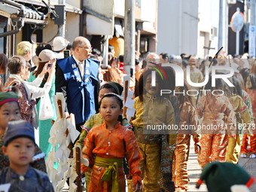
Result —
[[198, 0], [158, 1], [157, 53], [197, 54]]

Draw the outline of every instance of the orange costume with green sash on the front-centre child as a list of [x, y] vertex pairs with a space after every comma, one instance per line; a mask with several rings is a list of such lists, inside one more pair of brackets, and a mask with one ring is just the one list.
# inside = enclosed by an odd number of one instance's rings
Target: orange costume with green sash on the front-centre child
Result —
[[[136, 137], [131, 130], [121, 126], [120, 123], [115, 125], [114, 130], [108, 130], [105, 122], [94, 126], [84, 140], [82, 153], [83, 157], [89, 160], [89, 166], [93, 167], [88, 191], [125, 191], [123, 157], [128, 161], [133, 184], [137, 181], [142, 183]], [[114, 163], [106, 163], [113, 161]], [[103, 179], [106, 172], [110, 172], [109, 181]], [[118, 181], [117, 184], [114, 183], [114, 178]]]

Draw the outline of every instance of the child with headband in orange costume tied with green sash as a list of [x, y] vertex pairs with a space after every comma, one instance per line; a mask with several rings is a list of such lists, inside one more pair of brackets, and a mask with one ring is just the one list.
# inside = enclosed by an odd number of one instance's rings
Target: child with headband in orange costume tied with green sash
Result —
[[[142, 186], [142, 172], [136, 138], [131, 130], [121, 126], [117, 120], [123, 112], [123, 102], [120, 96], [107, 93], [99, 106], [104, 123], [90, 130], [82, 150], [83, 157], [93, 167], [88, 191], [125, 191], [122, 160], [126, 156], [133, 176], [133, 188], [138, 192]], [[82, 171], [87, 169], [82, 168]]]

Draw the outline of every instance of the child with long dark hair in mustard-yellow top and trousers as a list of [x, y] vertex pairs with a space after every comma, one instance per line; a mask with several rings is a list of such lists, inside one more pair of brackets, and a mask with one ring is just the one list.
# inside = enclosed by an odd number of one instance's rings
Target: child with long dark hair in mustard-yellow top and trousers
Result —
[[[143, 72], [139, 78], [138, 93], [133, 108], [136, 109], [131, 121], [136, 134], [141, 154], [140, 166], [142, 169], [143, 191], [159, 191], [160, 185], [160, 152], [161, 134], [168, 134], [170, 147], [175, 146], [175, 114], [171, 102], [160, 96], [163, 82], [156, 73], [155, 86], [152, 86], [151, 72]], [[161, 84], [162, 83], [162, 84]], [[159, 126], [169, 126], [170, 130], [160, 131]], [[178, 127], [177, 127], [178, 128]], [[171, 166], [171, 165], [169, 165]], [[172, 178], [170, 178], [172, 179]]]

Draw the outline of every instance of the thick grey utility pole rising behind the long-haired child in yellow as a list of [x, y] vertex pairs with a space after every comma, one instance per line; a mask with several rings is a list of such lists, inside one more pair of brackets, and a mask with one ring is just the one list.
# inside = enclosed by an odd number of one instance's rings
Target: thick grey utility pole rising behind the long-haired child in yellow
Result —
[[123, 69], [133, 75], [135, 68], [135, 0], [125, 0]]

